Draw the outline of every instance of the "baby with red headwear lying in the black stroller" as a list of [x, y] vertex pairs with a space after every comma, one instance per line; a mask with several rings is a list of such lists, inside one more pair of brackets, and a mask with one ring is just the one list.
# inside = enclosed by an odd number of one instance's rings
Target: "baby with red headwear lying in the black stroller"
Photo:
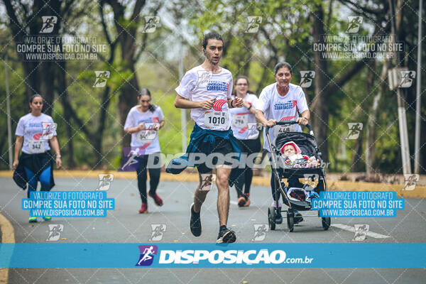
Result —
[[281, 147], [281, 157], [284, 158], [284, 165], [293, 168], [311, 168], [320, 165], [320, 162], [315, 158], [315, 155], [308, 157], [302, 155], [299, 146], [293, 141], [289, 141]]

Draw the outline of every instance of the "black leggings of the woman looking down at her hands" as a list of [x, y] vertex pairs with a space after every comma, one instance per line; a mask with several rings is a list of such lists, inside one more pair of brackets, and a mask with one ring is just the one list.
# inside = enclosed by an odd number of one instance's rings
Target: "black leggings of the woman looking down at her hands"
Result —
[[142, 203], [146, 203], [146, 169], [148, 164], [148, 158], [151, 156], [151, 160], [154, 161], [155, 168], [148, 168], [149, 170], [149, 193], [155, 195], [157, 190], [158, 183], [160, 182], [160, 155], [159, 153], [152, 153], [149, 155], [141, 155], [137, 157], [139, 161], [138, 169], [136, 173], [138, 174], [138, 189], [141, 194]]

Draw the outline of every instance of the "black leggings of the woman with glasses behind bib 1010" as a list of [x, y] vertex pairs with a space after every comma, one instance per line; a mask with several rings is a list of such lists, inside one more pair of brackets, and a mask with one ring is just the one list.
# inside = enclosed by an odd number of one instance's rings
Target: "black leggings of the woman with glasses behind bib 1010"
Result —
[[[252, 153], [258, 153], [261, 150], [261, 139], [249, 139], [249, 140], [239, 140], [239, 146], [241, 148], [241, 153], [246, 153], [247, 156]], [[246, 168], [233, 168], [231, 171], [231, 177], [234, 178], [235, 189], [237, 196], [243, 195], [243, 186], [244, 194], [250, 193], [251, 180], [253, 179], [253, 170], [249, 168], [246, 164]]]

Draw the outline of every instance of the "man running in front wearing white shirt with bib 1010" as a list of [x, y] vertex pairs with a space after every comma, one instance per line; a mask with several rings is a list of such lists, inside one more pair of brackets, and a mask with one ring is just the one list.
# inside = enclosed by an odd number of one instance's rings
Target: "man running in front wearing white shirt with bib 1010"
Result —
[[[204, 35], [202, 40], [202, 52], [206, 57], [204, 62], [186, 72], [180, 85], [176, 88], [178, 95], [175, 99], [175, 107], [192, 109], [191, 118], [195, 121], [195, 127], [191, 138], [199, 134], [210, 138], [214, 136], [213, 147], [201, 145], [208, 143], [200, 143], [200, 147], [198, 147], [200, 153], [206, 155], [211, 153], [226, 155], [234, 152], [231, 140], [235, 138], [230, 130], [231, 114], [229, 114], [229, 109], [243, 106], [241, 98], [231, 99], [233, 86], [231, 72], [219, 67], [223, 48], [224, 43], [219, 33], [211, 32]], [[206, 150], [206, 147], [209, 150]], [[216, 168], [216, 184], [219, 190], [217, 197], [219, 236], [217, 243], [233, 243], [236, 241], [235, 232], [226, 228], [229, 213], [229, 174], [231, 167], [218, 159], [214, 168]], [[209, 168], [207, 163], [201, 163], [197, 165], [197, 170], [200, 175], [200, 185], [195, 190], [194, 203], [190, 208], [190, 230], [194, 236], [200, 236], [202, 233], [200, 210], [212, 187], [212, 168]]]

